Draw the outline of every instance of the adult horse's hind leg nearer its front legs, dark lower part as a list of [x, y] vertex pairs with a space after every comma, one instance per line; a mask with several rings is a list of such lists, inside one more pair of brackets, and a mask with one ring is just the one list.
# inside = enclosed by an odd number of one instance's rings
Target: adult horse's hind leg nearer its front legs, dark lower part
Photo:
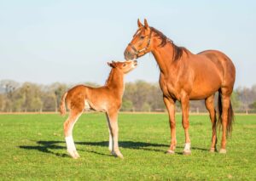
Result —
[[216, 137], [216, 111], [214, 109], [214, 94], [208, 97], [205, 101], [207, 110], [210, 113], [210, 119], [212, 122], [212, 146], [210, 152], [217, 151], [216, 144], [217, 144], [217, 137]]

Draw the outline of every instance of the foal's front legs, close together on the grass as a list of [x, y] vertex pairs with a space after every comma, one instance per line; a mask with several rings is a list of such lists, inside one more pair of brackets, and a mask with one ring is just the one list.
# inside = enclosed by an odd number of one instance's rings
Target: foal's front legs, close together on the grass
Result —
[[[110, 134], [112, 136], [112, 140], [109, 137], [109, 141], [112, 144], [112, 154], [113, 156], [118, 156], [119, 158], [124, 158], [119, 150], [119, 126], [118, 126], [118, 111], [108, 112], [107, 113], [108, 127], [110, 130]], [[111, 144], [109, 143], [109, 146]]]

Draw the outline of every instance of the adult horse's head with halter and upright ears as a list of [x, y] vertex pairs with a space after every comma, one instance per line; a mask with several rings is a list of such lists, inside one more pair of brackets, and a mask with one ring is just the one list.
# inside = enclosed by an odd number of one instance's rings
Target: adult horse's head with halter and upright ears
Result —
[[152, 31], [148, 26], [148, 22], [145, 19], [144, 25], [137, 20], [138, 29], [134, 34], [131, 42], [128, 44], [125, 49], [125, 59], [137, 59], [138, 57], [151, 52], [151, 37]]

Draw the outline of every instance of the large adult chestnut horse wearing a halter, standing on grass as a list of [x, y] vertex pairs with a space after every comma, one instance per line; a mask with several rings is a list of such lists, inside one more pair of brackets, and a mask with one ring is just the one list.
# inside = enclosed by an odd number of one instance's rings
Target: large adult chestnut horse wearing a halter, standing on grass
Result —
[[[152, 53], [160, 67], [160, 88], [169, 114], [171, 145], [167, 153], [176, 148], [175, 102], [182, 105], [182, 123], [185, 133], [183, 154], [190, 154], [189, 100], [205, 99], [212, 122], [211, 152], [217, 151], [216, 123], [222, 126], [219, 153], [226, 153], [226, 136], [232, 131], [233, 110], [230, 96], [236, 79], [236, 69], [225, 54], [206, 50], [192, 54], [187, 48], [177, 47], [172, 40], [154, 27], [138, 20], [138, 29], [125, 49], [125, 59], [136, 59]], [[214, 109], [214, 94], [218, 91], [218, 122]]]

